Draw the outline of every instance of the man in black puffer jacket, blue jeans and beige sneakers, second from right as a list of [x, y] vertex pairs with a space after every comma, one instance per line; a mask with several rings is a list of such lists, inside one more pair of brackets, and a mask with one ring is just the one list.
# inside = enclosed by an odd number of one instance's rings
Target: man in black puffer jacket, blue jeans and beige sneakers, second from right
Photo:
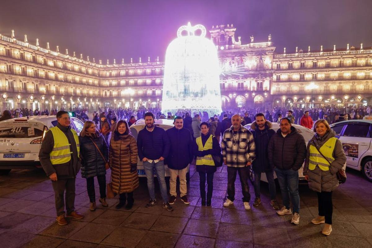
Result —
[[280, 129], [270, 139], [268, 155], [270, 166], [275, 168], [278, 177], [284, 205], [276, 213], [292, 215], [289, 205], [289, 195], [291, 195], [294, 212], [291, 223], [298, 225], [300, 218], [298, 170], [305, 160], [306, 144], [304, 137], [291, 125], [291, 120], [287, 117], [280, 120]]

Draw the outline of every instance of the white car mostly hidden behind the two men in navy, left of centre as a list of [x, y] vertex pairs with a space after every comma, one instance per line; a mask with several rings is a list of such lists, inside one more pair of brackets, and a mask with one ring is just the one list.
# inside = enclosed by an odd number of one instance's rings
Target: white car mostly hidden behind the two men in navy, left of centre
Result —
[[[164, 130], [168, 130], [173, 128], [173, 119], [156, 119], [154, 122], [154, 125], [163, 128]], [[134, 138], [137, 140], [138, 132], [140, 132], [142, 129], [145, 127], [145, 120], [140, 119], [137, 120], [133, 125], [129, 127], [131, 134], [134, 136]], [[165, 176], [170, 177], [169, 169], [167, 165], [164, 165], [165, 167]], [[143, 167], [143, 162], [138, 158], [138, 163], [137, 163], [137, 171], [138, 171], [138, 176], [139, 177], [146, 177], [145, 174], [145, 169]], [[154, 172], [155, 175], [155, 172]]]

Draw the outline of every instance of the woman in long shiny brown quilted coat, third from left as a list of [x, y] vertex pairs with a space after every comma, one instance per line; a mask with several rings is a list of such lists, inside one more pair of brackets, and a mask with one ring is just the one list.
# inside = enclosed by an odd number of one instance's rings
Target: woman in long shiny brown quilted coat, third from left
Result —
[[116, 209], [123, 207], [126, 200], [128, 203], [125, 209], [129, 210], [133, 206], [133, 191], [139, 186], [137, 157], [137, 142], [129, 133], [128, 123], [119, 120], [111, 137], [109, 151], [112, 190], [114, 193], [120, 194]]

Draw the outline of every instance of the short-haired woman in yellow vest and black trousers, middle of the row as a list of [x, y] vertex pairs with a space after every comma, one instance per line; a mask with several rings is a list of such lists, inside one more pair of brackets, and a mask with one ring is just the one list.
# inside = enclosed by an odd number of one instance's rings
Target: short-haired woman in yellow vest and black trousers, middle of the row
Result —
[[[200, 124], [201, 136], [194, 143], [194, 155], [196, 156], [196, 171], [200, 177], [200, 196], [202, 206], [211, 206], [213, 192], [213, 175], [216, 167], [212, 155], [221, 154], [221, 147], [215, 136], [209, 133], [209, 124]], [[208, 184], [208, 193], [205, 193], [205, 181]]]

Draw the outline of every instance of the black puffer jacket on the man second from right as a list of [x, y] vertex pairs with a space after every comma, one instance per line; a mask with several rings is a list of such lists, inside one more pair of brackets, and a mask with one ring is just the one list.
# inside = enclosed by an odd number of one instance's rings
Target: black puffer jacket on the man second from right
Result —
[[291, 133], [288, 133], [284, 138], [282, 131], [278, 129], [270, 139], [267, 151], [271, 168], [297, 171], [305, 160], [304, 136], [292, 126]]

